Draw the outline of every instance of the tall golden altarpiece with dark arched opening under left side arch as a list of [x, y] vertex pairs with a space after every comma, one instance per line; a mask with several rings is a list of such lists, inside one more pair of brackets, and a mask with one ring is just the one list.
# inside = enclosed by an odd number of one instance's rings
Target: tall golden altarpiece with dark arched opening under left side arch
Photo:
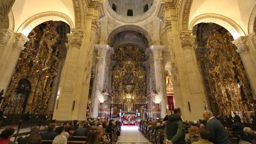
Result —
[[4, 114], [48, 114], [53, 111], [60, 72], [66, 57], [63, 22], [45, 22], [35, 27], [21, 52], [3, 102]]

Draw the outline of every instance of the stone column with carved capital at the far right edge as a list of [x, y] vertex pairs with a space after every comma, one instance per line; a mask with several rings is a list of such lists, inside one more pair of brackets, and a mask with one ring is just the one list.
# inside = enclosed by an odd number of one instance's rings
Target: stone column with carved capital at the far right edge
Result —
[[232, 43], [237, 47], [236, 51], [239, 53], [241, 57], [242, 63], [244, 65], [245, 71], [250, 81], [253, 99], [256, 100], [256, 67], [251, 58], [249, 47], [246, 44], [247, 37], [239, 37]]

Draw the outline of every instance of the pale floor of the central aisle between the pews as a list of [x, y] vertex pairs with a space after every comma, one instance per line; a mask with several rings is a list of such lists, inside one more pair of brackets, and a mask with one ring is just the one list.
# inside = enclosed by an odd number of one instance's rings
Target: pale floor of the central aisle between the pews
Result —
[[121, 135], [118, 137], [117, 144], [134, 144], [134, 142], [136, 142], [136, 144], [137, 142], [141, 144], [150, 143], [138, 130], [138, 126], [122, 126]]

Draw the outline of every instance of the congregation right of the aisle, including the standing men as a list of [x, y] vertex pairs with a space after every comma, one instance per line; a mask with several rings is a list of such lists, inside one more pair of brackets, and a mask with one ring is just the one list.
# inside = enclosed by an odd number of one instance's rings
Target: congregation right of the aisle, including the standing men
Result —
[[256, 143], [256, 133], [246, 127], [236, 113], [231, 128], [224, 127], [220, 117], [215, 117], [209, 110], [203, 111], [202, 115], [203, 120], [183, 121], [182, 110], [176, 108], [173, 114], [161, 120], [141, 120], [139, 129], [150, 142], [156, 144]]

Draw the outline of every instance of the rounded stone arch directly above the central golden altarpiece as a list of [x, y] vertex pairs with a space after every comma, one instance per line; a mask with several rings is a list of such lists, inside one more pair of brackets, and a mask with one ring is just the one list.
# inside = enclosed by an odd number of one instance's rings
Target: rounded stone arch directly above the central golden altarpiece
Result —
[[120, 27], [117, 27], [116, 29], [114, 29], [113, 31], [110, 32], [110, 34], [108, 35], [108, 39], [107, 39], [107, 43], [111, 42], [111, 40], [115, 37], [116, 34], [123, 32], [123, 31], [136, 31], [141, 33], [142, 35], [144, 35], [148, 41], [148, 45], [152, 45], [152, 38], [150, 37], [149, 33], [147, 32], [147, 30], [145, 30], [144, 28], [140, 27], [140, 26], [136, 26], [136, 25], [123, 25]]

